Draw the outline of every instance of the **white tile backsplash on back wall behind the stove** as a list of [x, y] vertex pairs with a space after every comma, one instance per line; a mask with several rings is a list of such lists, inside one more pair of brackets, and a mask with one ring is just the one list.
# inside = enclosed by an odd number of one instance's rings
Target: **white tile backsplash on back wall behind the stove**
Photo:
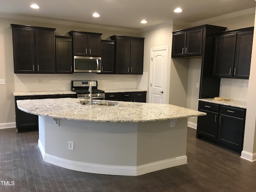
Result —
[[70, 90], [71, 80], [98, 80], [98, 89], [140, 88], [147, 90], [148, 74], [14, 74], [15, 91]]

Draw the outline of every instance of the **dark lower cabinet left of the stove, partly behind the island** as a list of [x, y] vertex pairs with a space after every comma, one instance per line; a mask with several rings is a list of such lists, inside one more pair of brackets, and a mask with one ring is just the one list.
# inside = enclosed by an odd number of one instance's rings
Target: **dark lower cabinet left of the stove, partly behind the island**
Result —
[[38, 130], [38, 116], [23, 112], [17, 107], [17, 100], [48, 99], [48, 98], [76, 98], [76, 94], [67, 95], [40, 95], [40, 96], [15, 96], [16, 132]]

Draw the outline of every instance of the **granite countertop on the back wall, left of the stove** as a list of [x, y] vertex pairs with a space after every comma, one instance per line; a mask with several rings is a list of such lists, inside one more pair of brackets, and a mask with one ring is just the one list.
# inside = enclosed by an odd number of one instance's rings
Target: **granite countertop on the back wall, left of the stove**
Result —
[[24, 91], [13, 92], [14, 96], [34, 96], [34, 95], [64, 95], [64, 94], [76, 94], [74, 91]]

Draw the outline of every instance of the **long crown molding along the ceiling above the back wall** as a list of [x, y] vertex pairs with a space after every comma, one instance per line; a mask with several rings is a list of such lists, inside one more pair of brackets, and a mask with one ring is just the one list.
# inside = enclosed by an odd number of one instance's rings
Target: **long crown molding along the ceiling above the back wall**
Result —
[[60, 25], [68, 25], [68, 26], [76, 26], [76, 27], [84, 27], [84, 28], [94, 28], [94, 29], [102, 29], [102, 30], [110, 30], [110, 31], [138, 33], [137, 29], [126, 29], [126, 28], [118, 28], [118, 27], [110, 27], [110, 26], [100, 26], [100, 25], [84, 24], [84, 23], [69, 22], [69, 21], [62, 21], [62, 20], [52, 20], [52, 19], [43, 19], [43, 18], [35, 18], [35, 17], [27, 17], [27, 16], [18, 16], [18, 15], [13, 15], [13, 14], [4, 14], [4, 13], [0, 13], [0, 18], [17, 19], [17, 20], [25, 20], [25, 21], [32, 21], [32, 22], [43, 22], [43, 23], [51, 23], [51, 24], [60, 24]]

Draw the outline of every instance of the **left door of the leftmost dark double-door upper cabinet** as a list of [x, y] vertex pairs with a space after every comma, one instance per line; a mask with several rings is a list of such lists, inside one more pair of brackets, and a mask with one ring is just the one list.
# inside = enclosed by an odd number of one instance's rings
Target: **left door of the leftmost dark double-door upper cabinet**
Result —
[[35, 73], [34, 30], [13, 28], [14, 73]]

